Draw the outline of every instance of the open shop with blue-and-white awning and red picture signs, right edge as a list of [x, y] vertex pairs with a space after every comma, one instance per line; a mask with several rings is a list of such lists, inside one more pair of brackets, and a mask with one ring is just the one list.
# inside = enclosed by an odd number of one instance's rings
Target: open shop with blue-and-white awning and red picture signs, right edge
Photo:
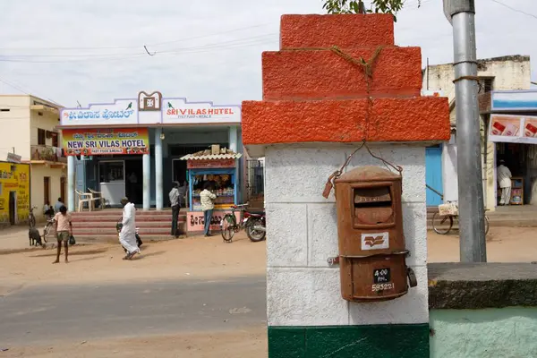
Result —
[[[537, 205], [537, 91], [494, 91], [488, 139], [494, 143], [494, 182], [499, 161], [511, 172], [509, 205]], [[501, 189], [496, 184], [495, 204]]]

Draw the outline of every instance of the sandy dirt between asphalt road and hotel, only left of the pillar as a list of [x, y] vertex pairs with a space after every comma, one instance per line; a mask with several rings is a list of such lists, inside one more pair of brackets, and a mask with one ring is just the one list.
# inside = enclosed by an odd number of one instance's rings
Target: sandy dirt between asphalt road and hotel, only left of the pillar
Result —
[[52, 265], [55, 249], [4, 254], [0, 255], [0, 295], [16, 287], [45, 283], [264, 275], [265, 248], [265, 242], [251, 243], [239, 233], [233, 243], [224, 243], [217, 235], [144, 243], [141, 255], [130, 261], [122, 260], [124, 251], [119, 244], [72, 246], [69, 264], [62, 256], [59, 264]]

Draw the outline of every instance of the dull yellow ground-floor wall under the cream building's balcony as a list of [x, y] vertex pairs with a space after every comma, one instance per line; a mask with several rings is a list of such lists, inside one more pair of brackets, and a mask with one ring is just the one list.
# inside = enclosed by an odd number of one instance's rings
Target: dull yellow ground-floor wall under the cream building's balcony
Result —
[[[37, 207], [34, 210], [34, 215], [38, 220], [43, 220], [43, 207], [45, 206], [45, 176], [50, 177], [50, 205], [55, 204], [56, 200], [60, 197], [60, 178], [65, 175], [66, 169], [51, 168], [46, 165], [32, 165], [31, 166], [31, 205]], [[65, 185], [67, 185], [65, 183]], [[67, 194], [67, 187], [65, 187], [65, 194]]]

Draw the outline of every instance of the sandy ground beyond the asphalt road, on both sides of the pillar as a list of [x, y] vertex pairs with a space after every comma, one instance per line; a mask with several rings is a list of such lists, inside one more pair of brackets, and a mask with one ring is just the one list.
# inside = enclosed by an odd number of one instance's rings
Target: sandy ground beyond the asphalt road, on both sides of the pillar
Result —
[[[537, 235], [532, 227], [491, 227], [487, 236], [489, 262], [537, 260]], [[456, 262], [456, 234], [429, 232], [429, 262]], [[126, 279], [214, 278], [264, 275], [266, 243], [251, 243], [240, 233], [234, 243], [219, 236], [144, 243], [136, 260], [124, 261], [119, 245], [73, 246], [70, 263], [52, 265], [55, 250], [0, 255], [0, 295], [17, 287], [45, 283], [98, 283]]]

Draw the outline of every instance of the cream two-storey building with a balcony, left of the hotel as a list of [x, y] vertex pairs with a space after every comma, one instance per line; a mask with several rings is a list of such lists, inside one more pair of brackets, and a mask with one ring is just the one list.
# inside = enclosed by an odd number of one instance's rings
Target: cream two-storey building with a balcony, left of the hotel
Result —
[[[67, 158], [57, 130], [61, 107], [30, 95], [0, 95], [0, 158], [8, 153], [30, 164], [30, 206], [43, 216], [43, 207], [65, 198]], [[19, 220], [21, 221], [21, 219]]]

